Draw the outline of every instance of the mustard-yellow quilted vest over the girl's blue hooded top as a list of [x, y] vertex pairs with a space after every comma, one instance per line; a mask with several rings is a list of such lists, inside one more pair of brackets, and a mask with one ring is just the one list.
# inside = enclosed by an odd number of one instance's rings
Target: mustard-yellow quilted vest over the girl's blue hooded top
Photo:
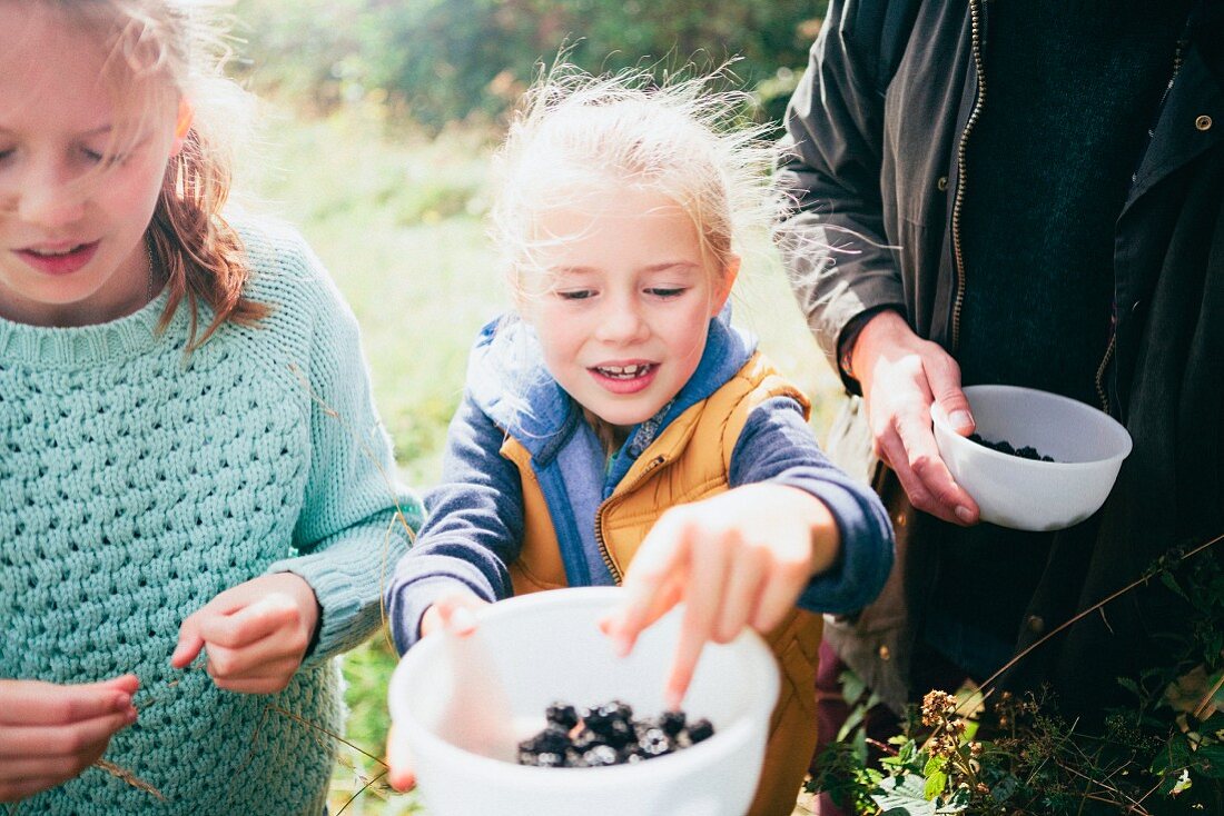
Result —
[[[728, 489], [731, 453], [754, 407], [789, 396], [809, 410], [807, 398], [754, 354], [734, 377], [668, 425], [643, 451], [596, 514], [597, 540], [617, 584], [646, 532], [663, 510]], [[502, 455], [523, 480], [524, 540], [510, 564], [515, 595], [565, 586], [557, 536], [531, 455], [507, 438]], [[782, 684], [770, 722], [765, 766], [749, 816], [789, 816], [815, 746], [815, 672], [820, 617], [793, 609], [766, 635], [781, 668]]]

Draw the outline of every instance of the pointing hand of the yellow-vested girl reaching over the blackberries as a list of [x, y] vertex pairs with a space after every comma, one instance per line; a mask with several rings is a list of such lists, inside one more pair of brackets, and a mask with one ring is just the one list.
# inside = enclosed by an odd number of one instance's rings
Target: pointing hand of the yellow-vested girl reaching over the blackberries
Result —
[[624, 577], [628, 599], [602, 628], [628, 655], [646, 626], [685, 603], [666, 690], [667, 705], [679, 708], [705, 641], [776, 626], [837, 552], [832, 514], [798, 488], [745, 484], [683, 504], [641, 542]]

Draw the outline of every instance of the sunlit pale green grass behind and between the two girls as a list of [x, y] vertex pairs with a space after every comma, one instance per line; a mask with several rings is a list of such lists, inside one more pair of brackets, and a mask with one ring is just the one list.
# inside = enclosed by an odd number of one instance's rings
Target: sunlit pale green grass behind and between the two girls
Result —
[[[252, 186], [259, 209], [302, 231], [353, 306], [400, 476], [425, 488], [441, 471], [468, 347], [508, 299], [483, 239], [488, 150], [480, 136], [389, 139], [376, 113], [318, 121], [275, 115]], [[775, 363], [813, 396], [814, 426], [827, 427], [840, 387], [767, 247], [745, 259], [734, 297], [736, 322], [756, 333]], [[395, 659], [383, 637], [344, 659], [346, 739], [373, 756], [383, 752]], [[354, 799], [379, 771], [341, 746], [332, 814], [419, 812], [414, 796], [388, 795], [378, 783]]]

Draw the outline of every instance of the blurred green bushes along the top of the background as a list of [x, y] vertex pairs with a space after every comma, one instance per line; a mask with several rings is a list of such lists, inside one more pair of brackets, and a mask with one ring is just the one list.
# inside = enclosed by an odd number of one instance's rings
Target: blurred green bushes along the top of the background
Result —
[[825, 0], [239, 0], [255, 88], [317, 113], [355, 103], [441, 132], [496, 122], [539, 62], [733, 71], [776, 120]]

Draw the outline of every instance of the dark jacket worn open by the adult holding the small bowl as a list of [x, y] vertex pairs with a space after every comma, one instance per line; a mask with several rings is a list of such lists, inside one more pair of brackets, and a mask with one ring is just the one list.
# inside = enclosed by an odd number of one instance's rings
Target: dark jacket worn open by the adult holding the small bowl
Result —
[[[881, 306], [956, 356], [953, 306], [973, 285], [958, 257], [958, 208], [974, 172], [989, 172], [965, 160], [989, 104], [988, 26], [982, 0], [830, 4], [787, 115], [777, 180], [797, 207], [777, 236], [831, 361], [847, 323]], [[1114, 343], [1098, 385], [1135, 449], [1105, 506], [1056, 537], [1017, 651], [1126, 586], [1169, 547], [1224, 532], [1224, 2], [1201, 1], [1191, 15], [1114, 246]], [[931, 575], [907, 554], [920, 553], [930, 517], [869, 460], [862, 420], [856, 398], [829, 450], [874, 475], [894, 513], [898, 559], [880, 601], [831, 621], [826, 636], [900, 708], [924, 691], [907, 684], [920, 625], [907, 607], [919, 606]], [[1105, 613], [1034, 650], [1005, 684], [1050, 681], [1070, 712], [1089, 717], [1118, 702], [1115, 678], [1162, 658], [1160, 632], [1180, 610], [1152, 586]]]

